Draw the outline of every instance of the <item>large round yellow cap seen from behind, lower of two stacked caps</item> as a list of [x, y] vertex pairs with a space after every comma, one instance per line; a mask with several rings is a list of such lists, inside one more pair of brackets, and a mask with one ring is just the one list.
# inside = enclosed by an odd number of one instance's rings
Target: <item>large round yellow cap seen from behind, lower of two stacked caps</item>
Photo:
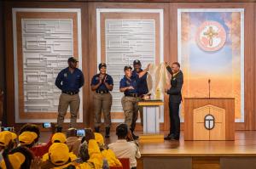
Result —
[[54, 143], [49, 147], [49, 159], [56, 166], [62, 166], [69, 160], [67, 144]]

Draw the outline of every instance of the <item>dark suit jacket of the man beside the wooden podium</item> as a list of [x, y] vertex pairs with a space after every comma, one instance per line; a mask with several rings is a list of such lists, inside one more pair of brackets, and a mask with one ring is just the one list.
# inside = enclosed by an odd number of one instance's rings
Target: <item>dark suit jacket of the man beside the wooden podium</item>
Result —
[[[170, 66], [167, 66], [166, 69], [172, 74], [172, 69]], [[169, 94], [170, 103], [180, 103], [182, 101], [182, 90], [183, 87], [183, 72], [179, 70], [177, 75], [173, 76], [171, 79], [171, 88], [167, 91]]]

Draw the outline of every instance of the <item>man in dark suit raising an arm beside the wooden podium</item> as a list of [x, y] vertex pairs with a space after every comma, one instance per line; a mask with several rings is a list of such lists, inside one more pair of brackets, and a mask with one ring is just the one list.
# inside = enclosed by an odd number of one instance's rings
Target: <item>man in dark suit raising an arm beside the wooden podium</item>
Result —
[[166, 69], [171, 73], [171, 88], [166, 89], [165, 92], [169, 94], [169, 115], [170, 115], [170, 132], [165, 137], [166, 140], [178, 140], [180, 133], [179, 120], [179, 104], [182, 101], [182, 87], [183, 87], [183, 72], [180, 70], [178, 62], [172, 63], [172, 68], [166, 65]]

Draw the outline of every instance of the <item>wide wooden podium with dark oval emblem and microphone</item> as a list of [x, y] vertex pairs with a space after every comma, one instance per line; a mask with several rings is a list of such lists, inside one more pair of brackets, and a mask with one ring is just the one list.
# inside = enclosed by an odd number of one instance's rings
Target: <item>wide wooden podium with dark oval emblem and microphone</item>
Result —
[[235, 140], [234, 98], [185, 98], [185, 140]]

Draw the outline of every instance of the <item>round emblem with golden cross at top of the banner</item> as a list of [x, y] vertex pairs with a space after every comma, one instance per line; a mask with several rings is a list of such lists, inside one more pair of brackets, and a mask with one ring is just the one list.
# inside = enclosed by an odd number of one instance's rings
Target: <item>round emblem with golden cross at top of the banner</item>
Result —
[[226, 31], [216, 21], [205, 21], [197, 30], [196, 42], [205, 51], [217, 51], [226, 42]]

